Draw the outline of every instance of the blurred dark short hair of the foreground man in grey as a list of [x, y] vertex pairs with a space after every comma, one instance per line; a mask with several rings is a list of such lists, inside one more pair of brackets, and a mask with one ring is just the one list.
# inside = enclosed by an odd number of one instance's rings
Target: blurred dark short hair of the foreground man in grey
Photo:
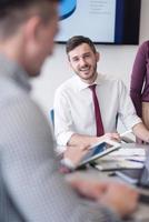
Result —
[[[0, 29], [3, 37], [12, 34], [18, 27], [31, 14], [31, 9], [36, 9], [37, 14], [42, 20], [49, 21], [53, 17], [52, 3], [61, 0], [0, 0]], [[51, 3], [51, 11], [47, 3]]]

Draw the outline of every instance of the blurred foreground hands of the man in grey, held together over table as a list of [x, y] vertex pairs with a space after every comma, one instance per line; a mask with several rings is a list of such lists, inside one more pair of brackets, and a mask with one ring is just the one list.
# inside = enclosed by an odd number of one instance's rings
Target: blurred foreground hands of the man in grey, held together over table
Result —
[[138, 192], [123, 183], [78, 175], [70, 175], [68, 181], [81, 195], [113, 209], [121, 218], [129, 215], [137, 208]]

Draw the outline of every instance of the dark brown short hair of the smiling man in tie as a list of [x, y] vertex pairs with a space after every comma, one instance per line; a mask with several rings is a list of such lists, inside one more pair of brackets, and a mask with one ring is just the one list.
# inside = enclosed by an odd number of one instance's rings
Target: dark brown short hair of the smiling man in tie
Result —
[[88, 38], [88, 37], [83, 37], [83, 36], [74, 36], [72, 38], [70, 38], [67, 41], [67, 46], [66, 46], [66, 52], [67, 54], [72, 51], [76, 47], [79, 47], [82, 43], [87, 43], [89, 44], [89, 47], [91, 48], [92, 52], [96, 53], [96, 47], [93, 44], [93, 42]]

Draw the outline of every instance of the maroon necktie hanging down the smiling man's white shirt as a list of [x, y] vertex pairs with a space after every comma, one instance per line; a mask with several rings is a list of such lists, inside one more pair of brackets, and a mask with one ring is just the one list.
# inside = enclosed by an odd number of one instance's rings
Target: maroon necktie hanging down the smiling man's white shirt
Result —
[[97, 137], [100, 137], [100, 135], [105, 134], [105, 130], [103, 130], [103, 124], [102, 124], [99, 102], [98, 102], [97, 94], [96, 94], [96, 84], [89, 85], [89, 89], [92, 91], [92, 99], [93, 99], [93, 104], [95, 104]]

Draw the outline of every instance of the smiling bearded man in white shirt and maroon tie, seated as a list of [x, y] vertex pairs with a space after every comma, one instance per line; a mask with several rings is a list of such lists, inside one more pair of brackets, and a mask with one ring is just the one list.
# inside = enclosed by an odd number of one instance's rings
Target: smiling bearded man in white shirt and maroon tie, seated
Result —
[[[98, 73], [100, 54], [92, 41], [76, 36], [68, 40], [66, 50], [76, 75], [56, 92], [54, 132], [58, 144], [90, 147], [103, 139], [119, 140], [117, 117], [128, 130], [132, 129], [137, 137], [149, 141], [149, 131], [137, 117], [122, 81]], [[97, 103], [100, 108], [97, 108]], [[100, 112], [98, 117], [97, 112]], [[63, 147], [59, 151], [64, 150]]]

